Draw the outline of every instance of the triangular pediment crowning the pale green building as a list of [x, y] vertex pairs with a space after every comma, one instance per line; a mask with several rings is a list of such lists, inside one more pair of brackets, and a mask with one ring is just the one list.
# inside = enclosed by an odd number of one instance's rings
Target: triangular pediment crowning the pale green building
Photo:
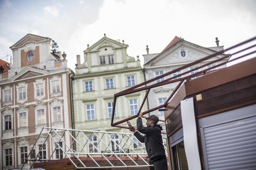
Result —
[[93, 44], [91, 47], [88, 47], [84, 53], [88, 53], [88, 52], [93, 52], [93, 51], [98, 51], [100, 50], [100, 48], [104, 48], [104, 47], [111, 47], [111, 48], [127, 48], [128, 45], [124, 44], [124, 43], [120, 43], [116, 40], [110, 39], [108, 37], [103, 37], [102, 39], [100, 39], [98, 42], [96, 42], [95, 44]]

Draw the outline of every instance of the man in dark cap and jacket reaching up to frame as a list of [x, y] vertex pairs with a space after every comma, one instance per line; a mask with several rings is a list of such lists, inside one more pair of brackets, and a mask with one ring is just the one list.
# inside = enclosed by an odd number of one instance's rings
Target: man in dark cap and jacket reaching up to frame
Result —
[[129, 130], [134, 132], [140, 142], [145, 143], [148, 159], [153, 162], [154, 169], [167, 170], [167, 160], [161, 135], [163, 128], [157, 124], [159, 118], [156, 115], [145, 117], [147, 119], [147, 127], [143, 127], [141, 117], [142, 112], [140, 112], [137, 119], [137, 129], [140, 133], [144, 133], [145, 136], [140, 135], [133, 126]]

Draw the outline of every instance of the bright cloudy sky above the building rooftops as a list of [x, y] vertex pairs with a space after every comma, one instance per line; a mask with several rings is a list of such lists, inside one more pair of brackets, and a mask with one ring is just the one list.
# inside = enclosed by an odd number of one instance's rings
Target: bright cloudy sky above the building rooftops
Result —
[[26, 34], [49, 37], [76, 55], [104, 36], [128, 44], [129, 56], [160, 53], [175, 37], [204, 47], [224, 48], [256, 35], [255, 0], [0, 0], [0, 58]]

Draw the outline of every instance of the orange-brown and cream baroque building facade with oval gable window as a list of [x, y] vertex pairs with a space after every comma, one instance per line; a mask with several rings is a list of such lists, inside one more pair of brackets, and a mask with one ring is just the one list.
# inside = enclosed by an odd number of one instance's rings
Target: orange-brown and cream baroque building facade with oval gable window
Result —
[[[10, 48], [13, 64], [0, 74], [0, 169], [20, 168], [43, 127], [71, 128], [66, 54], [51, 53], [50, 38], [27, 34]], [[57, 136], [57, 135], [56, 135]], [[69, 143], [70, 138], [63, 137]], [[50, 157], [54, 142], [38, 139], [30, 158]], [[65, 148], [64, 148], [65, 149]], [[57, 148], [54, 158], [62, 158]], [[30, 161], [25, 163], [29, 167]]]

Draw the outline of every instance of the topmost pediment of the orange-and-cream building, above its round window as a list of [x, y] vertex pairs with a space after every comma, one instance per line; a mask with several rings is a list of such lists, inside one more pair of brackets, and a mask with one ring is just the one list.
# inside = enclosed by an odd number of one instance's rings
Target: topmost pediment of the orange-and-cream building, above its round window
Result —
[[[50, 39], [48, 37], [41, 37], [38, 35], [27, 34], [25, 37], [20, 39], [18, 42], [16, 42], [10, 48], [13, 49], [13, 48], [21, 47], [21, 46], [25, 45], [25, 50], [29, 50], [29, 48], [31, 48], [31, 50], [33, 50], [33, 48], [35, 48], [35, 47], [33, 47], [35, 45], [35, 43], [40, 42], [40, 41], [51, 41], [51, 40], [52, 39]], [[31, 43], [33, 43], [33, 44], [31, 44]]]

